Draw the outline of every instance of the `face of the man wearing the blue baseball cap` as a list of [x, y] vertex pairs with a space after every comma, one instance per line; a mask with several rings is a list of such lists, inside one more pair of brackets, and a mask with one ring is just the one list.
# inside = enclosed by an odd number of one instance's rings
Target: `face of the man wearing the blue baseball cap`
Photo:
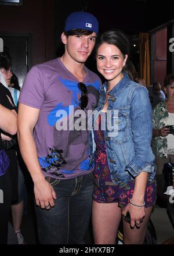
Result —
[[61, 34], [61, 40], [65, 45], [65, 56], [69, 61], [85, 63], [95, 46], [96, 33], [90, 35], [69, 35]]

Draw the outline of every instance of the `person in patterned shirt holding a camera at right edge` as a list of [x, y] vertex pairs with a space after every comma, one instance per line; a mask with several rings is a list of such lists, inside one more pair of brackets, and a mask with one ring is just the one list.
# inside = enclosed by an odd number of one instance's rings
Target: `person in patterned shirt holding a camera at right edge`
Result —
[[166, 101], [160, 102], [153, 110], [153, 152], [157, 175], [162, 174], [164, 163], [174, 163], [174, 136], [166, 126], [174, 125], [174, 74], [164, 80]]

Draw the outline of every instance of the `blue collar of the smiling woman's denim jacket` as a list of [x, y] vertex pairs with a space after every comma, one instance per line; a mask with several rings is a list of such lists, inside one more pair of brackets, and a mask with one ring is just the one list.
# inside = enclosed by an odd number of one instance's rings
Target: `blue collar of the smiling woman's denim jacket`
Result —
[[[122, 79], [118, 82], [117, 86], [114, 86], [114, 88], [110, 90], [108, 95], [116, 96], [120, 94], [125, 89], [126, 86], [128, 86], [128, 83], [131, 79], [129, 78], [129, 75], [127, 72], [124, 72], [123, 74], [124, 74], [124, 77], [122, 77]], [[104, 99], [106, 98], [107, 87], [108, 87], [108, 82], [106, 81], [103, 84], [102, 88], [100, 89], [100, 94]]]

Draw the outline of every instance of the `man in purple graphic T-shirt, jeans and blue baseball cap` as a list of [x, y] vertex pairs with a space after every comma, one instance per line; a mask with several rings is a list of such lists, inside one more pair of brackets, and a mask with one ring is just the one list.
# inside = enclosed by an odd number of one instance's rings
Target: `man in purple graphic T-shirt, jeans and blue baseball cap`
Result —
[[20, 93], [19, 145], [34, 182], [42, 244], [80, 244], [88, 228], [93, 191], [88, 130], [78, 129], [74, 111], [84, 109], [86, 120], [97, 104], [101, 81], [85, 62], [98, 26], [90, 13], [71, 13], [61, 34], [63, 56], [32, 67]]

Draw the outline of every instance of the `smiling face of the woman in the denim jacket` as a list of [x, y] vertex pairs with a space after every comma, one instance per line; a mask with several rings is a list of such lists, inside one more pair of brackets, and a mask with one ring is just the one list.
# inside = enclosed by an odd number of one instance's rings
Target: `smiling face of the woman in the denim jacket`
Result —
[[127, 58], [128, 55], [124, 58], [118, 47], [105, 42], [97, 49], [97, 69], [106, 80], [115, 85], [122, 79], [122, 69]]

